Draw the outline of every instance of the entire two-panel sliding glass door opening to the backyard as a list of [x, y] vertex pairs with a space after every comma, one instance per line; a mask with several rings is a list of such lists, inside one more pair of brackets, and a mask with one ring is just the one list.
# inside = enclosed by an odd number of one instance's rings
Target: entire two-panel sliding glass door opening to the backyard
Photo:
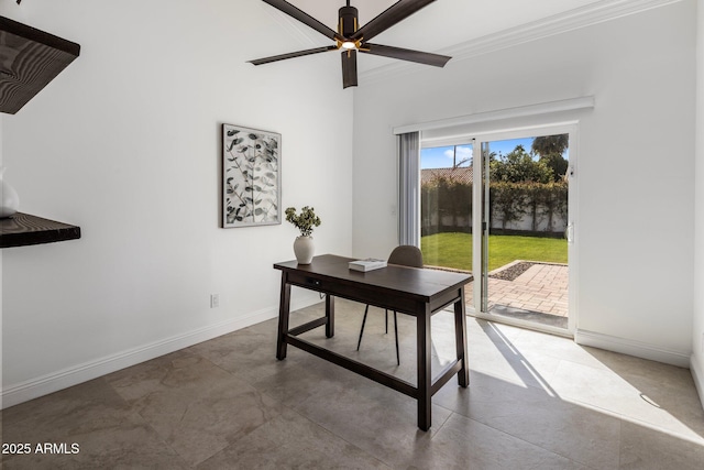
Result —
[[571, 331], [574, 133], [550, 127], [421, 143], [424, 259], [474, 274], [471, 314]]

